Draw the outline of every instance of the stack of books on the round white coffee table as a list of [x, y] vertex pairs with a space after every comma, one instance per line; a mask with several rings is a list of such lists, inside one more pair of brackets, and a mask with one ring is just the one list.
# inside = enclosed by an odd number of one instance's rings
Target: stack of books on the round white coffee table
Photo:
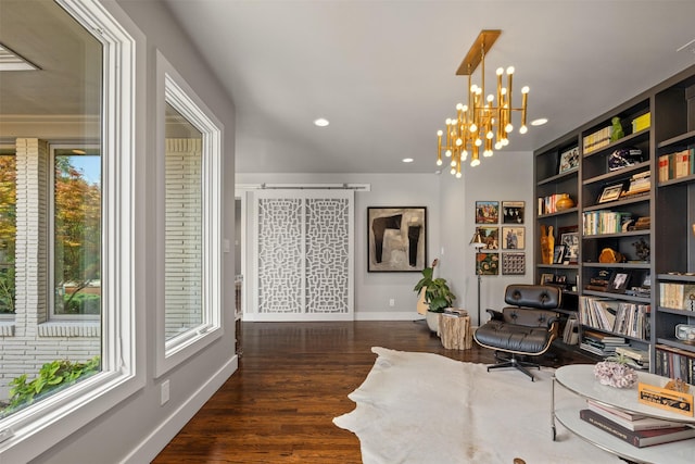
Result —
[[683, 423], [632, 414], [591, 400], [586, 404], [587, 409], [579, 412], [582, 421], [633, 447], [644, 448], [695, 438], [695, 428]]

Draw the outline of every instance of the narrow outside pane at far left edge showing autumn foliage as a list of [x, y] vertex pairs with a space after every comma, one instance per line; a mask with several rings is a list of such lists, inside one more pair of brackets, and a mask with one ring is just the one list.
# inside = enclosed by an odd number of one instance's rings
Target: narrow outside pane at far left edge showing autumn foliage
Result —
[[16, 187], [14, 152], [0, 150], [0, 316], [15, 311]]

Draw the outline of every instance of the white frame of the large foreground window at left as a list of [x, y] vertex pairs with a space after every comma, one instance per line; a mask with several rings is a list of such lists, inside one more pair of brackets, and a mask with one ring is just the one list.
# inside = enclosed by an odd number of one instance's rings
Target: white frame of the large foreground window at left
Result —
[[[136, 294], [141, 269], [136, 265], [142, 248], [137, 242], [136, 120], [144, 114], [136, 110], [137, 29], [126, 30], [100, 2], [55, 0], [102, 43], [104, 73], [102, 95], [102, 371], [75, 386], [48, 397], [0, 421], [0, 461], [28, 462], [60, 443], [94, 418], [146, 386], [143, 365], [136, 353], [144, 347], [144, 315], [138, 314], [142, 296]], [[143, 48], [140, 47], [139, 52]], [[138, 66], [136, 66], [138, 61]], [[140, 184], [141, 180], [140, 180]], [[142, 185], [137, 186], [138, 189]], [[136, 247], [138, 246], [138, 247]], [[140, 265], [142, 267], [142, 265]]]

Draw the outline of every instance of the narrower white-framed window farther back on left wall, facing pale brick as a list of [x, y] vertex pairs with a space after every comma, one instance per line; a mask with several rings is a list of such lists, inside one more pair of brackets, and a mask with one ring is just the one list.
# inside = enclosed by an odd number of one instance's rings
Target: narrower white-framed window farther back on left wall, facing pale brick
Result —
[[162, 375], [222, 336], [222, 129], [161, 53], [157, 80], [164, 136], [159, 140], [165, 239], [156, 363]]

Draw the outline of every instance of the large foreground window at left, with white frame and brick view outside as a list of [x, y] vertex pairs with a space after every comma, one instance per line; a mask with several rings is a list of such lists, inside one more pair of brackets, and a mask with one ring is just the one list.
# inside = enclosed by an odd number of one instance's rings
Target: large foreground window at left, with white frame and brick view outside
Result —
[[[2, 331], [0, 462], [29, 462], [144, 385], [134, 331], [144, 321], [135, 292], [135, 40], [100, 2], [56, 0], [0, 2], [0, 41], [38, 65], [3, 72], [0, 87], [2, 143], [14, 145], [16, 167], [16, 329]], [[89, 291], [98, 302], [75, 310]], [[63, 360], [88, 363], [88, 375], [38, 394], [25, 388], [52, 385], [55, 372], [39, 368]], [[23, 383], [22, 401], [7, 409]]]

